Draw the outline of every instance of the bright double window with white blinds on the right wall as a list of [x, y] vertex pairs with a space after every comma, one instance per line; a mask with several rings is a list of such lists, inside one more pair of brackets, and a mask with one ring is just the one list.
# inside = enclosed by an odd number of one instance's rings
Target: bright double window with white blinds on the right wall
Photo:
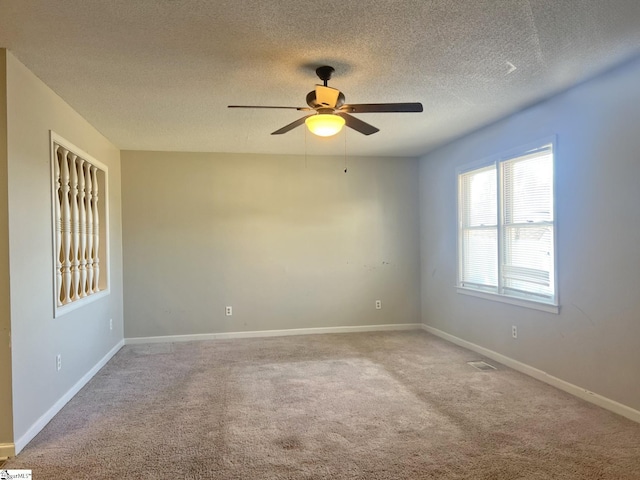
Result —
[[555, 307], [553, 143], [523, 150], [458, 174], [458, 287]]

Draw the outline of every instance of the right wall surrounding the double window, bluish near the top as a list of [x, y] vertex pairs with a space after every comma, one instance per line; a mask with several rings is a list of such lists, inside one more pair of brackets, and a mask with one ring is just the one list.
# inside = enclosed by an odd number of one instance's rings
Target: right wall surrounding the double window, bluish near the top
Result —
[[[639, 84], [636, 60], [420, 162], [423, 322], [636, 410]], [[560, 313], [456, 293], [456, 167], [549, 135], [557, 135]]]

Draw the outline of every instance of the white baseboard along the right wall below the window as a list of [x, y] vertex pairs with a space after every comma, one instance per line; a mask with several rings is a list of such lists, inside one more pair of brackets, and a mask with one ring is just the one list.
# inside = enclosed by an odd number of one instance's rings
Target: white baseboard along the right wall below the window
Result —
[[618, 403], [615, 400], [611, 400], [607, 397], [603, 397], [602, 395], [598, 395], [597, 393], [586, 390], [582, 387], [574, 385], [572, 383], [566, 382], [558, 377], [554, 377], [553, 375], [549, 375], [542, 370], [538, 370], [526, 363], [519, 362], [514, 360], [513, 358], [502, 355], [501, 353], [494, 352], [493, 350], [489, 350], [488, 348], [481, 347], [476, 345], [475, 343], [468, 342], [461, 338], [458, 338], [449, 333], [443, 332], [442, 330], [438, 330], [437, 328], [430, 327], [428, 325], [422, 325], [422, 328], [433, 335], [436, 335], [440, 338], [448, 340], [451, 343], [455, 343], [461, 347], [472, 350], [476, 353], [484, 355], [485, 357], [491, 358], [496, 362], [499, 362], [503, 365], [506, 365], [509, 368], [513, 368], [519, 372], [522, 372], [530, 377], [535, 378], [536, 380], [540, 380], [541, 382], [547, 383], [551, 386], [559, 388], [571, 395], [574, 395], [578, 398], [586, 400], [587, 402], [593, 403], [602, 407], [606, 410], [609, 410], [613, 413], [617, 413], [618, 415], [622, 415], [634, 422], [640, 423], [640, 411], [635, 410], [631, 407], [623, 405], [622, 403]]

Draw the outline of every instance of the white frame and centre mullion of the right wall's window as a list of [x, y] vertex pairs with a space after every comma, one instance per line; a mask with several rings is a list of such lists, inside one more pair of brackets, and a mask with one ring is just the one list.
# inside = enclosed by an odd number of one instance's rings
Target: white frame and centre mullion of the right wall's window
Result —
[[[501, 271], [504, 265], [503, 254], [504, 254], [504, 229], [505, 229], [505, 221], [503, 215], [503, 199], [504, 199], [504, 185], [502, 178], [502, 168], [501, 165], [507, 161], [515, 160], [519, 157], [525, 157], [532, 153], [535, 153], [537, 150], [541, 150], [544, 148], [550, 147], [552, 155], [553, 155], [553, 165], [552, 165], [552, 189], [553, 189], [553, 206], [552, 206], [552, 229], [553, 229], [553, 298], [549, 301], [545, 301], [542, 298], [538, 298], [535, 294], [532, 294], [531, 297], [523, 293], [522, 295], [512, 295], [508, 293], [504, 293], [504, 289], [500, 291], [500, 285], [502, 284], [501, 279]], [[511, 305], [517, 305], [525, 308], [532, 308], [536, 310], [541, 310], [544, 312], [555, 313], [558, 314], [560, 310], [559, 306], [559, 294], [558, 294], [558, 219], [556, 215], [556, 199], [557, 199], [557, 189], [556, 189], [556, 164], [558, 158], [558, 150], [557, 150], [557, 138], [556, 136], [542, 138], [536, 142], [528, 143], [526, 145], [520, 145], [509, 150], [506, 150], [497, 155], [492, 155], [490, 157], [486, 157], [482, 160], [475, 161], [472, 163], [468, 163], [462, 165], [456, 169], [456, 210], [457, 210], [457, 274], [456, 274], [456, 291], [457, 293], [470, 295], [474, 297], [484, 298], [487, 300], [507, 303]], [[471, 287], [468, 284], [462, 284], [462, 272], [463, 272], [463, 212], [462, 212], [462, 175], [473, 172], [475, 170], [480, 170], [483, 168], [491, 167], [495, 168], [496, 180], [497, 180], [497, 224], [496, 224], [496, 233], [497, 233], [497, 258], [498, 258], [498, 286], [496, 290], [491, 290], [488, 288], [482, 287]]]

